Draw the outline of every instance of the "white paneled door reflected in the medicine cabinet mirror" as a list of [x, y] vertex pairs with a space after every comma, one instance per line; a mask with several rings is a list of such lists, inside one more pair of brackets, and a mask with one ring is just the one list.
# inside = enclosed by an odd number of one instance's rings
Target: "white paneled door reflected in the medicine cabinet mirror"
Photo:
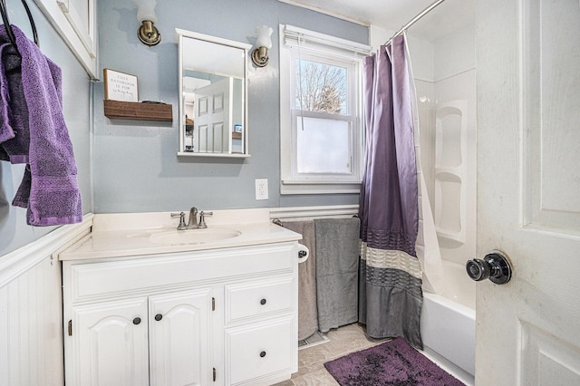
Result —
[[232, 136], [230, 100], [233, 87], [233, 78], [225, 78], [196, 90], [193, 120], [196, 152], [230, 152]]

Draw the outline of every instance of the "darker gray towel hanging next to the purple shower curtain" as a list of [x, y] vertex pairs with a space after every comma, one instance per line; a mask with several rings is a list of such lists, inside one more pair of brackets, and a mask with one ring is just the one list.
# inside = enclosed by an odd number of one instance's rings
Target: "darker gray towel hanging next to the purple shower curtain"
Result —
[[358, 320], [359, 227], [357, 217], [314, 220], [318, 328]]

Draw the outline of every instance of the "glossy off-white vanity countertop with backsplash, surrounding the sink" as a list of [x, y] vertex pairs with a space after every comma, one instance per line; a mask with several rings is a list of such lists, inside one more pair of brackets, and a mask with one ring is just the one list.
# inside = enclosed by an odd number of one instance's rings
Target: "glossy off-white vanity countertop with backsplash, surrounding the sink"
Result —
[[[269, 210], [235, 209], [215, 210], [213, 216], [206, 217], [208, 229], [177, 230], [179, 217], [171, 217], [171, 212], [123, 213], [95, 215], [92, 232], [73, 246], [65, 249], [60, 260], [80, 260], [120, 256], [157, 255], [164, 253], [198, 251], [235, 246], [256, 246], [261, 244], [296, 241], [302, 235], [270, 221]], [[189, 213], [186, 213], [186, 222]], [[237, 234], [216, 241], [194, 243], [160, 243], [158, 236], [182, 232], [205, 234], [226, 232]], [[187, 236], [180, 234], [178, 236]], [[199, 238], [199, 237], [198, 237]]]

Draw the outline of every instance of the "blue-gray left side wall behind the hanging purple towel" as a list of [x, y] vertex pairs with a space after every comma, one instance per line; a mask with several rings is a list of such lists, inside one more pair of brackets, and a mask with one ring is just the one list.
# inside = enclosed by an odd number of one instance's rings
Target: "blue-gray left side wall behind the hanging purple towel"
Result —
[[[6, 2], [11, 24], [17, 25], [32, 39], [32, 30], [19, 1]], [[92, 84], [81, 64], [61, 37], [53, 30], [34, 2], [27, 2], [34, 16], [39, 43], [44, 55], [63, 70], [63, 112], [71, 140], [82, 192], [82, 212], [92, 211], [91, 128]], [[24, 174], [24, 165], [0, 162], [0, 256], [25, 246], [47, 234], [54, 227], [29, 227], [26, 209], [11, 206]]]

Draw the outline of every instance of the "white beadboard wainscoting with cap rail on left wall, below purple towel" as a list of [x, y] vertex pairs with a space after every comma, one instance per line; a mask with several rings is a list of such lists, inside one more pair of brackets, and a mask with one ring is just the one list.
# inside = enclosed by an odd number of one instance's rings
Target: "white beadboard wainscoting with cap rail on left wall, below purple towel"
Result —
[[64, 384], [58, 254], [90, 232], [92, 217], [0, 256], [0, 385]]

